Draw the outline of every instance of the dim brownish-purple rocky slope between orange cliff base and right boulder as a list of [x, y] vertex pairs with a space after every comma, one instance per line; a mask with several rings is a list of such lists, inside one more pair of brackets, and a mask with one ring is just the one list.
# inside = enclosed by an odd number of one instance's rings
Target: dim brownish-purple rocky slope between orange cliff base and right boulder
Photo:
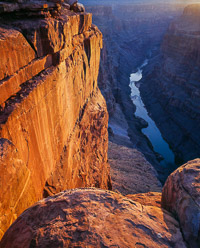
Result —
[[154, 167], [137, 149], [109, 142], [108, 157], [114, 191], [123, 195], [161, 192], [162, 186]]

